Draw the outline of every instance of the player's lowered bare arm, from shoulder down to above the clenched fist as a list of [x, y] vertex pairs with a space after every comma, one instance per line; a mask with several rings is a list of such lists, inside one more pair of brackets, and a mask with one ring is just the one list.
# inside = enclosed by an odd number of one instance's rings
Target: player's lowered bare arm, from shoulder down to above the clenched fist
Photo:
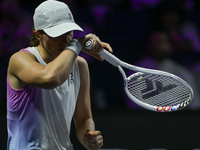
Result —
[[92, 119], [90, 104], [90, 75], [87, 62], [81, 58], [77, 58], [80, 72], [80, 90], [74, 113], [74, 121], [76, 126], [87, 119]]

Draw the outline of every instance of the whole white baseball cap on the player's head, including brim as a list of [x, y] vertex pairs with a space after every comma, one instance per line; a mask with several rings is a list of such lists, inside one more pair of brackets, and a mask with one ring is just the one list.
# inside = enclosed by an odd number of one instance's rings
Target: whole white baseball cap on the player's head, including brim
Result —
[[74, 22], [69, 7], [60, 1], [47, 0], [41, 3], [33, 16], [35, 30], [43, 30], [50, 37], [58, 37], [69, 31], [83, 29]]

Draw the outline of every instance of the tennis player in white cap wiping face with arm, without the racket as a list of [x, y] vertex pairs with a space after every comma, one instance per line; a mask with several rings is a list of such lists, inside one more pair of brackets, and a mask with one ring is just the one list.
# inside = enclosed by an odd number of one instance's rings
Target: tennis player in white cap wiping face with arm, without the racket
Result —
[[[78, 140], [88, 150], [103, 146], [90, 107], [90, 77], [83, 52], [97, 53], [109, 44], [94, 34], [73, 39], [83, 31], [69, 7], [56, 0], [41, 3], [33, 16], [32, 46], [13, 54], [7, 74], [8, 150], [73, 150], [72, 118]], [[92, 50], [84, 43], [94, 40]]]

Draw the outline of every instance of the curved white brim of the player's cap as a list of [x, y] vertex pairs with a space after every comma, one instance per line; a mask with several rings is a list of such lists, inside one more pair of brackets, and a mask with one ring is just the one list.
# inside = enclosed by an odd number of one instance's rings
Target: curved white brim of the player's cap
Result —
[[73, 22], [59, 24], [57, 26], [54, 26], [54, 27], [51, 27], [48, 29], [43, 29], [43, 30], [50, 37], [58, 37], [60, 35], [63, 35], [69, 31], [73, 31], [73, 30], [83, 31], [83, 29], [80, 26], [78, 26], [76, 23], [73, 23]]

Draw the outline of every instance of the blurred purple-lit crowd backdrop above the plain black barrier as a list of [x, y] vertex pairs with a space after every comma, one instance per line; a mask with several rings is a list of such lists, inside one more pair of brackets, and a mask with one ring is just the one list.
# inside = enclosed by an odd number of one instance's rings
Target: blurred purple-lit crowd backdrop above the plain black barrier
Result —
[[[62, 0], [85, 30], [74, 38], [95, 33], [108, 42], [121, 60], [160, 69], [185, 79], [194, 101], [185, 110], [200, 110], [200, 10], [197, 0]], [[10, 56], [29, 46], [32, 16], [42, 1], [0, 2], [0, 106], [6, 111], [6, 71]], [[91, 71], [94, 109], [130, 108], [116, 68], [82, 54]], [[131, 74], [128, 72], [127, 74]]]

